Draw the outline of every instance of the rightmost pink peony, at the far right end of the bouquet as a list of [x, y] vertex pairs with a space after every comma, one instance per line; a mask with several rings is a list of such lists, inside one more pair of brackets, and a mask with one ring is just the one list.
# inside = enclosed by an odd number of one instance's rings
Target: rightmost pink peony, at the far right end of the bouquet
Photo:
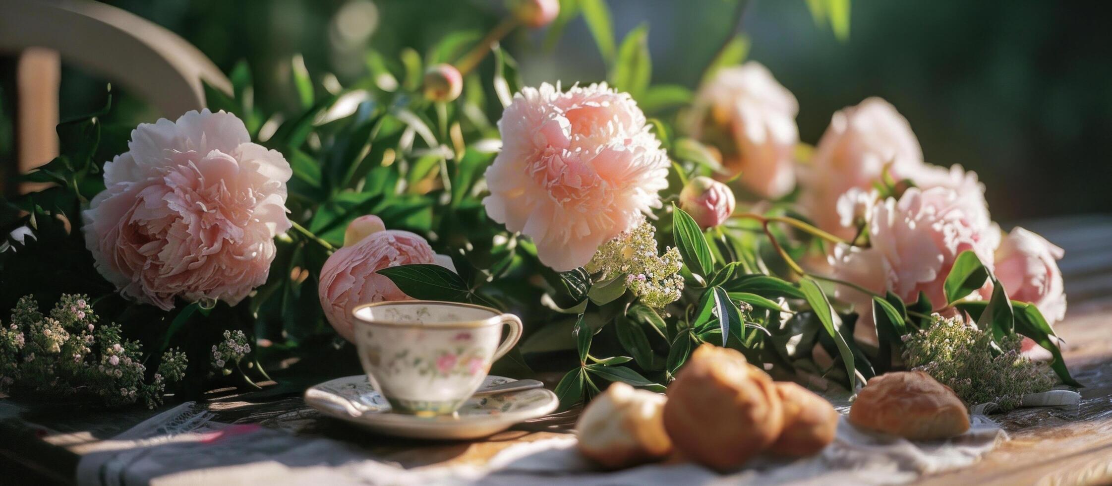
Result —
[[1015, 228], [996, 250], [996, 278], [1012, 300], [1034, 304], [1051, 324], [1065, 317], [1065, 294], [1058, 260], [1065, 252], [1045, 238]]

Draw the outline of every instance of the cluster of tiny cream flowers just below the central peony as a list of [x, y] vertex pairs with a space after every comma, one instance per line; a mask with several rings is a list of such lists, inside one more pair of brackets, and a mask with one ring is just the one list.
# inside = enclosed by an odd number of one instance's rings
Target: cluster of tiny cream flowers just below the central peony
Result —
[[656, 228], [648, 221], [618, 235], [598, 248], [585, 267], [599, 274], [598, 280], [625, 275], [626, 287], [648, 307], [663, 309], [679, 299], [684, 278], [679, 275], [683, 259], [679, 250], [667, 248], [656, 252]]

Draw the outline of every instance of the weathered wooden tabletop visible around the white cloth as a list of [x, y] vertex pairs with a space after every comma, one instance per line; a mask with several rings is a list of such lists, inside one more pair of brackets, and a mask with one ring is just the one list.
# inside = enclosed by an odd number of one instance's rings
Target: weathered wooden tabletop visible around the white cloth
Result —
[[[993, 416], [1012, 440], [977, 464], [922, 478], [922, 484], [1016, 485], [1112, 483], [1112, 217], [1031, 221], [1066, 250], [1069, 315], [1056, 326], [1071, 373], [1088, 387], [1078, 409], [1026, 408]], [[254, 423], [297, 434], [359, 444], [377, 458], [418, 467], [479, 464], [523, 442], [570, 432], [575, 415], [522, 424], [483, 440], [437, 443], [384, 439], [325, 419], [300, 398], [310, 384], [284, 383], [261, 391], [216, 393], [216, 420]], [[64, 407], [0, 399], [0, 483], [69, 484], [83, 450], [159, 410], [101, 411], [75, 416]]]

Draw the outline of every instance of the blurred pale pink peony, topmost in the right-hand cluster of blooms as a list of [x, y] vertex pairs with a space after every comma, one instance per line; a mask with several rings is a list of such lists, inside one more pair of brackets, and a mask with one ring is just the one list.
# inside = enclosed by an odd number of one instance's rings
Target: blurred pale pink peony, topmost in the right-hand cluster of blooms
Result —
[[907, 119], [880, 98], [843, 109], [831, 119], [811, 166], [800, 170], [800, 206], [820, 228], [852, 238], [854, 229], [840, 224], [837, 200], [852, 188], [870, 189], [890, 162], [896, 180], [923, 166], [923, 150]]

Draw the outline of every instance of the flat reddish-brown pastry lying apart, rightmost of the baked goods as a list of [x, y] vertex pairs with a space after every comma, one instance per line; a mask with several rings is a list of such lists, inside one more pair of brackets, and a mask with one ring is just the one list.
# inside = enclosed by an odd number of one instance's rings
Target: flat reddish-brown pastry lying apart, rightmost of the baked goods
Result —
[[858, 428], [909, 439], [941, 439], [970, 429], [965, 404], [950, 387], [923, 371], [874, 376], [850, 408]]

